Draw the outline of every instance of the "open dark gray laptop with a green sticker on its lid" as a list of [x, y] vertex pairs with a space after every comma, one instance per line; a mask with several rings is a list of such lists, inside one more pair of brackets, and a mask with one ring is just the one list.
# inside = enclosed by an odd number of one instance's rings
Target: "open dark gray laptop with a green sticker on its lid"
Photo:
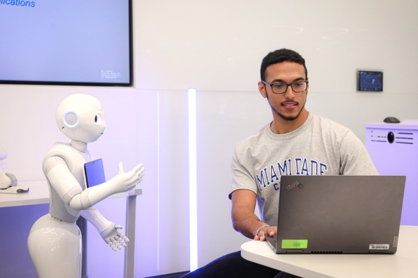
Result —
[[404, 190], [405, 176], [282, 176], [266, 240], [277, 254], [394, 254]]

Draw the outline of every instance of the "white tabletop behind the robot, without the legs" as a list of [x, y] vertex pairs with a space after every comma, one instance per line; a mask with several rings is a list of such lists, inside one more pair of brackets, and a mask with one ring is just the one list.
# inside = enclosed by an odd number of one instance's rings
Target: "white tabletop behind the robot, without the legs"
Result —
[[[49, 189], [47, 181], [22, 181], [18, 186], [28, 186], [29, 192], [19, 194], [1, 194], [0, 208], [7, 206], [27, 206], [30, 204], [49, 204]], [[127, 193], [117, 193], [109, 198], [141, 195], [142, 188], [134, 188]]]

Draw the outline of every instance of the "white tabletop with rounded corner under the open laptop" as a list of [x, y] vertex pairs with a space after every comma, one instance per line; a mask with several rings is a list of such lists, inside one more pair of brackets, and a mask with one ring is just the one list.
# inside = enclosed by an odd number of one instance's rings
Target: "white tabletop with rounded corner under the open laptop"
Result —
[[275, 254], [252, 240], [241, 245], [241, 256], [306, 278], [418, 277], [418, 227], [401, 226], [396, 254]]

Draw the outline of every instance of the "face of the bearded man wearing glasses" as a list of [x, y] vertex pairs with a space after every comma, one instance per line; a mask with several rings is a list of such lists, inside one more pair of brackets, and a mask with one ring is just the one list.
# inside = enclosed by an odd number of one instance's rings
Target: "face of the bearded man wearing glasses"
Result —
[[[294, 83], [307, 81], [303, 65], [293, 62], [281, 62], [267, 67], [265, 82], [267, 83]], [[258, 90], [268, 99], [273, 113], [277, 113], [283, 120], [295, 120], [304, 110], [307, 101], [309, 85], [303, 92], [293, 92], [288, 86], [284, 94], [274, 94], [270, 85], [258, 82]]]

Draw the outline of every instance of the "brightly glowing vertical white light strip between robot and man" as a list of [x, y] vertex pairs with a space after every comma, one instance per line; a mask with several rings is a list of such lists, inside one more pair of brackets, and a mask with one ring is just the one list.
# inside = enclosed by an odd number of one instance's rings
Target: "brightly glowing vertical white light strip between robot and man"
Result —
[[190, 271], [197, 269], [196, 90], [189, 89], [189, 229]]

